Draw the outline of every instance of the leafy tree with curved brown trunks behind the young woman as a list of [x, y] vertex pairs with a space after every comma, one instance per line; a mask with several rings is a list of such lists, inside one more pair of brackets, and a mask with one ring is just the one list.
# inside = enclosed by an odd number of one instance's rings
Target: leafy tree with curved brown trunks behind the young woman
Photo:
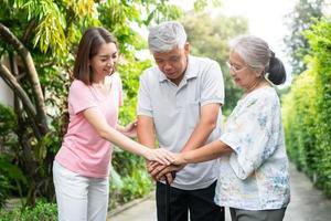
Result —
[[130, 83], [150, 65], [135, 57], [146, 42], [132, 24], [173, 20], [181, 10], [167, 0], [2, 0], [0, 8], [0, 59], [9, 61], [9, 65], [1, 62], [0, 76], [14, 92], [12, 134], [18, 139], [15, 145], [0, 144], [7, 146], [1, 155], [26, 176], [26, 203], [33, 204], [38, 196], [54, 194], [52, 162], [66, 128], [67, 88], [84, 30], [103, 25], [117, 36], [125, 61], [119, 69], [129, 80], [124, 87], [130, 101], [137, 93]]

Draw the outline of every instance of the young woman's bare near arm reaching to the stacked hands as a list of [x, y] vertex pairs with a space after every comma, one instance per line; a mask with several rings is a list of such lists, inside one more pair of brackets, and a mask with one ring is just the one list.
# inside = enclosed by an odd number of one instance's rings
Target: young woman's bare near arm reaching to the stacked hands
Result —
[[97, 108], [87, 108], [83, 112], [84, 117], [86, 120], [95, 128], [97, 134], [117, 145], [118, 147], [130, 151], [132, 154], [139, 155], [145, 157], [148, 160], [154, 160], [163, 165], [169, 165], [173, 161], [173, 156], [166, 149], [150, 149], [146, 146], [142, 146], [130, 138], [122, 135], [117, 129], [110, 127], [104, 115], [102, 115]]

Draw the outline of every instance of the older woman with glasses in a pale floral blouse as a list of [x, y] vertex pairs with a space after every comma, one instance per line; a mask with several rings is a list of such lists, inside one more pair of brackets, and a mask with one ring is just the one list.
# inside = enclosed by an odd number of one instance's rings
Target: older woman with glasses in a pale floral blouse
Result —
[[280, 103], [273, 84], [285, 82], [284, 65], [264, 40], [249, 35], [234, 41], [228, 65], [245, 93], [223, 135], [178, 154], [174, 165], [182, 168], [220, 158], [215, 202], [229, 207], [232, 220], [282, 220], [290, 200], [289, 172]]

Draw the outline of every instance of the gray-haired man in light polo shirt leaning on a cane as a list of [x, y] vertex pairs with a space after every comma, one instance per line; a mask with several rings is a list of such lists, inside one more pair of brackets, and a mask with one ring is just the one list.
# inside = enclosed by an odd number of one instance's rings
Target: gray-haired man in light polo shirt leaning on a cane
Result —
[[[138, 94], [138, 138], [142, 145], [170, 151], [188, 151], [221, 135], [221, 105], [224, 85], [220, 65], [210, 59], [190, 55], [184, 28], [163, 22], [148, 36], [157, 66], [143, 72]], [[177, 173], [171, 187], [171, 221], [224, 220], [224, 209], [214, 203], [216, 161], [191, 164]], [[147, 162], [156, 178], [164, 169]], [[167, 168], [166, 168], [167, 169]], [[167, 176], [169, 179], [169, 175]], [[157, 182], [158, 220], [164, 220], [166, 185]]]

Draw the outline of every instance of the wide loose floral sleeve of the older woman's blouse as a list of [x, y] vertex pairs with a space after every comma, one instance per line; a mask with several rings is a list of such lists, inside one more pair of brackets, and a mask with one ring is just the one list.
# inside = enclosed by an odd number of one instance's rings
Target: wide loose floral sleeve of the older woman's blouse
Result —
[[248, 102], [231, 118], [221, 136], [221, 140], [234, 150], [229, 165], [239, 179], [250, 176], [277, 148], [270, 143], [278, 136], [273, 129], [278, 113], [274, 104], [270, 97]]

